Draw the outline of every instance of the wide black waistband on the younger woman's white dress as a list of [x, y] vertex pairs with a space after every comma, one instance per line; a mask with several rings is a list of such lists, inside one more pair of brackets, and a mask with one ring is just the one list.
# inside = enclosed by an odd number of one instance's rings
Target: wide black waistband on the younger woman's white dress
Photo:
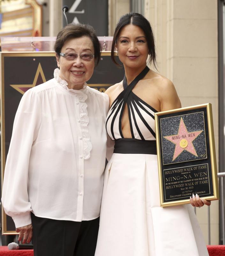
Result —
[[156, 155], [155, 140], [138, 140], [121, 138], [115, 140], [114, 152], [119, 154], [150, 154]]

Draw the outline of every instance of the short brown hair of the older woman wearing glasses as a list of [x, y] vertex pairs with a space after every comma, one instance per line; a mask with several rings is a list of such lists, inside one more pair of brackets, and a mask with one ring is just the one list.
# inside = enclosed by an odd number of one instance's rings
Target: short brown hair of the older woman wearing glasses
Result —
[[60, 57], [59, 53], [61, 53], [62, 47], [67, 39], [83, 36], [87, 36], [92, 40], [94, 46], [94, 59], [95, 64], [97, 65], [101, 58], [101, 44], [96, 36], [94, 28], [88, 24], [70, 23], [61, 29], [56, 37], [56, 43], [54, 45], [56, 54]]

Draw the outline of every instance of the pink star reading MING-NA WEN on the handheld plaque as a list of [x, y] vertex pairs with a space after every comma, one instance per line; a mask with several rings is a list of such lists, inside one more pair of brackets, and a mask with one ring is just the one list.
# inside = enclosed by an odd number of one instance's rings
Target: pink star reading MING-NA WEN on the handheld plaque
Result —
[[176, 135], [169, 135], [169, 136], [164, 136], [163, 138], [169, 140], [170, 142], [174, 143], [175, 150], [173, 154], [173, 161], [184, 151], [188, 151], [191, 154], [198, 156], [194, 145], [192, 141], [196, 139], [196, 137], [199, 136], [200, 133], [202, 133], [203, 130], [201, 131], [193, 131], [193, 132], [188, 132], [187, 128], [184, 124], [183, 119], [180, 119], [180, 125], [178, 128], [178, 133]]

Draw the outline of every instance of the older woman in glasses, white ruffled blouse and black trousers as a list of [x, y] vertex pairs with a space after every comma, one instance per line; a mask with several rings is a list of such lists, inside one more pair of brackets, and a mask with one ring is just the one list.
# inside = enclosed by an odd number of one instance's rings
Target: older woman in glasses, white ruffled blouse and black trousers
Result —
[[[108, 95], [87, 86], [100, 60], [88, 25], [55, 43], [54, 78], [28, 90], [15, 116], [2, 203], [34, 255], [94, 255], [106, 155]], [[33, 234], [32, 234], [33, 230]]]

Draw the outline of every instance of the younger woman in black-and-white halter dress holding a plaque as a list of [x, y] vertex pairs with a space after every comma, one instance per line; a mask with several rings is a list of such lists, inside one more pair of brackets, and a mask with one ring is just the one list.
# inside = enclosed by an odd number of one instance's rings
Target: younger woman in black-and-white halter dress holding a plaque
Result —
[[[173, 83], [146, 66], [155, 64], [149, 22], [138, 13], [122, 16], [112, 43], [125, 76], [106, 93], [106, 120], [114, 153], [104, 177], [95, 256], [206, 256], [191, 205], [160, 207], [154, 113], [181, 107]], [[209, 205], [198, 196], [194, 206]]]

